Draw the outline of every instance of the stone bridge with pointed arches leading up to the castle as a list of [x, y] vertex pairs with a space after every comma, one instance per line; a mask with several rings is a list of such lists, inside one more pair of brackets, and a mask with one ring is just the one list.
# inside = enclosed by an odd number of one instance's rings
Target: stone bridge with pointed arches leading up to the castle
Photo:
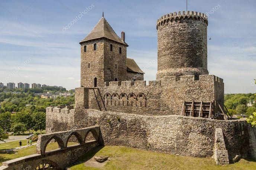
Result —
[[[44, 167], [44, 169], [65, 169], [68, 165], [83, 156], [89, 150], [99, 146], [99, 126], [92, 126], [77, 130], [49, 133], [39, 135], [36, 152], [37, 154], [9, 160], [3, 162], [0, 170], [34, 170]], [[87, 140], [89, 133], [93, 137]], [[78, 145], [67, 146], [71, 137], [76, 137]], [[56, 141], [59, 149], [46, 152], [46, 147], [50, 142]]]

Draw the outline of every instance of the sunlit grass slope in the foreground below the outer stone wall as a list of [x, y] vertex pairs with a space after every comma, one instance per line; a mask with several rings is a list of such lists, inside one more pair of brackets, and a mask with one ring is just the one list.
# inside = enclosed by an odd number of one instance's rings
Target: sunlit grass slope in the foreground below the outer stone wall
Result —
[[212, 158], [194, 158], [175, 156], [171, 154], [157, 153], [135, 148], [121, 146], [98, 147], [85, 154], [80, 161], [86, 161], [93, 156], [109, 156], [108, 161], [102, 168], [86, 167], [83, 163], [71, 167], [71, 170], [112, 170], [112, 169], [202, 169], [202, 170], [255, 170], [256, 162], [241, 159], [239, 162], [225, 166], [217, 166]]

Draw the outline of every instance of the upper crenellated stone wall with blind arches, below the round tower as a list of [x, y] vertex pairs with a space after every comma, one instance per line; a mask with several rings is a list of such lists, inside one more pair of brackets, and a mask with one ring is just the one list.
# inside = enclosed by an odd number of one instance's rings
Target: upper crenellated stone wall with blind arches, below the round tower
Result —
[[[79, 89], [77, 89], [79, 90]], [[169, 76], [165, 81], [105, 82], [100, 93], [108, 111], [120, 111], [140, 115], [180, 114], [183, 101], [224, 102], [223, 79], [214, 75]], [[103, 110], [103, 103], [97, 93]], [[98, 109], [93, 91], [89, 92], [88, 107]], [[86, 104], [87, 105], [87, 104]]]

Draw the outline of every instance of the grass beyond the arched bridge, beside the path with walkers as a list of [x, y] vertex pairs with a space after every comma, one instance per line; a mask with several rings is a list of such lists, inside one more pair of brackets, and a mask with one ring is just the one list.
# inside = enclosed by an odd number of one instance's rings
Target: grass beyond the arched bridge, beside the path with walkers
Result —
[[[33, 142], [35, 143], [35, 142]], [[74, 145], [76, 143], [68, 143], [68, 146]], [[27, 140], [22, 140], [22, 146], [26, 146], [27, 145]], [[7, 143], [1, 143], [0, 144], [0, 150], [7, 150], [7, 149], [13, 149], [19, 147], [19, 141], [13, 141], [13, 142], [7, 142]], [[48, 144], [46, 151], [49, 150], [54, 150], [58, 148], [58, 143], [54, 142], [54, 143], [50, 143]], [[7, 154], [0, 154], [0, 166], [2, 166], [2, 162], [4, 161], [8, 161], [11, 159], [15, 159], [15, 158], [19, 158], [19, 157], [23, 157], [23, 156], [28, 156], [28, 155], [32, 155], [32, 154], [36, 154], [36, 146], [30, 146], [27, 148], [22, 148], [16, 151], [11, 151], [10, 153]]]

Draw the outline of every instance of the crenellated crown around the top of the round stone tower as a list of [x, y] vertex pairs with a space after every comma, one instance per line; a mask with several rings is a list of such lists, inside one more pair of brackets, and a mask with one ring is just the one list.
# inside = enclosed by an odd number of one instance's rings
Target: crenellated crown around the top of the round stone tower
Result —
[[166, 22], [173, 22], [174, 20], [182, 20], [182, 19], [192, 19], [192, 20], [200, 20], [202, 19], [204, 23], [208, 25], [208, 16], [201, 12], [194, 12], [194, 11], [179, 11], [174, 13], [169, 13], [161, 16], [157, 20], [157, 27], [162, 25]]

